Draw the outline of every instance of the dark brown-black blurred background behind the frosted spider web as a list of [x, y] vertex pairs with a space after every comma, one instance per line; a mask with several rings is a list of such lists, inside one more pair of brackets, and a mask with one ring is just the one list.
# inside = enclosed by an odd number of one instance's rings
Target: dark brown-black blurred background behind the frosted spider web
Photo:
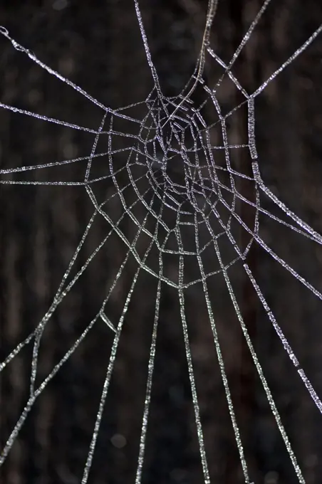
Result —
[[[259, 0], [219, 0], [211, 45], [228, 62], [261, 6]], [[140, 0], [148, 41], [165, 95], [177, 95], [194, 70], [207, 2]], [[0, 23], [38, 58], [111, 107], [145, 100], [152, 88], [133, 1], [1, 1]], [[311, 35], [322, 21], [316, 0], [272, 0], [234, 67], [249, 93]], [[32, 63], [0, 38], [1, 102], [97, 129], [101, 111]], [[322, 38], [256, 98], [256, 141], [266, 184], [291, 209], [322, 232]], [[207, 59], [204, 78], [217, 80]], [[228, 112], [240, 98], [225, 81], [220, 104]], [[192, 96], [201, 102], [199, 91]], [[136, 116], [142, 117], [140, 107]], [[143, 112], [143, 108], [142, 108]], [[129, 128], [130, 129], [130, 128]], [[246, 116], [232, 117], [229, 136], [244, 142]], [[135, 133], [133, 133], [135, 134]], [[0, 110], [1, 167], [12, 168], [88, 155], [93, 136]], [[102, 159], [102, 163], [108, 163]], [[124, 162], [122, 157], [118, 161]], [[239, 171], [251, 175], [250, 159], [237, 155]], [[64, 169], [26, 172], [6, 179], [78, 180], [85, 163]], [[102, 167], [100, 167], [103, 169]], [[98, 169], [98, 173], [100, 170]], [[98, 175], [99, 176], [99, 175]], [[244, 194], [249, 188], [244, 187]], [[110, 181], [96, 194], [113, 194]], [[246, 195], [245, 195], [246, 196]], [[277, 216], [274, 204], [265, 209]], [[107, 210], [123, 211], [114, 198]], [[1, 347], [3, 360], [36, 327], [76, 249], [93, 206], [83, 187], [1, 185]], [[144, 216], [144, 214], [143, 214]], [[251, 218], [244, 212], [243, 217]], [[285, 217], [284, 217], [285, 219]], [[251, 222], [250, 222], [251, 224]], [[129, 221], [122, 226], [133, 240]], [[98, 221], [80, 253], [78, 268], [108, 233]], [[189, 234], [187, 234], [189, 238]], [[242, 236], [241, 236], [242, 237]], [[318, 290], [322, 252], [317, 244], [261, 219], [261, 237]], [[189, 241], [187, 241], [189, 243]], [[96, 314], [127, 249], [117, 236], [93, 260], [58, 307], [41, 338], [40, 383]], [[209, 253], [209, 261], [212, 260]], [[261, 248], [249, 265], [286, 337], [322, 395], [321, 302]], [[107, 314], [115, 325], [133, 280], [130, 258], [113, 291]], [[165, 273], [175, 278], [177, 258]], [[197, 278], [194, 266], [187, 269]], [[241, 266], [232, 283], [259, 361], [281, 413], [307, 484], [322, 483], [321, 414], [272, 329]], [[147, 362], [157, 283], [141, 271], [125, 317], [123, 335], [103, 414], [89, 483], [130, 484], [135, 470], [145, 399]], [[209, 293], [224, 362], [254, 483], [293, 484], [298, 479], [249, 357], [223, 278], [212, 278]], [[186, 312], [204, 439], [213, 484], [244, 482], [229, 418], [202, 287], [186, 291]], [[4, 484], [81, 482], [88, 446], [110, 357], [113, 334], [95, 325], [43, 391], [0, 470]], [[4, 446], [28, 399], [32, 347], [25, 347], [1, 373], [0, 439]], [[177, 291], [163, 285], [150, 423], [142, 483], [202, 484], [185, 346]]]

